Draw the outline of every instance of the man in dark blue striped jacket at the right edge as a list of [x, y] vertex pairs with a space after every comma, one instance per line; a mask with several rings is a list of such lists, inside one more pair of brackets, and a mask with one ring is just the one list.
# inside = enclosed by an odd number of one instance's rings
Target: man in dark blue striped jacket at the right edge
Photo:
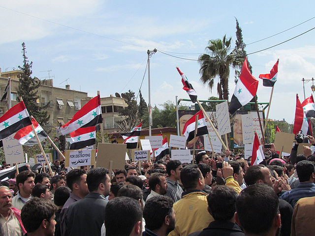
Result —
[[292, 207], [294, 207], [297, 201], [299, 201], [301, 198], [315, 196], [314, 164], [311, 161], [299, 161], [296, 164], [296, 172], [300, 180], [299, 185], [280, 196], [281, 199], [291, 204]]

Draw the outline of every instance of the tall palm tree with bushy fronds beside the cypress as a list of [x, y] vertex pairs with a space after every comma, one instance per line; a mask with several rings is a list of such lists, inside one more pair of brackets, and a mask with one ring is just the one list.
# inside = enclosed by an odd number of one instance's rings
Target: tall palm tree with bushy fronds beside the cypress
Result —
[[223, 36], [222, 40], [210, 40], [209, 46], [206, 47], [208, 54], [202, 54], [198, 58], [200, 80], [203, 84], [208, 84], [211, 91], [215, 83], [214, 79], [219, 76], [217, 90], [220, 100], [228, 100], [230, 65], [233, 68], [239, 68], [244, 61], [244, 59], [236, 58], [235, 49], [228, 54], [231, 47], [231, 40], [231, 37], [226, 39], [226, 35]]

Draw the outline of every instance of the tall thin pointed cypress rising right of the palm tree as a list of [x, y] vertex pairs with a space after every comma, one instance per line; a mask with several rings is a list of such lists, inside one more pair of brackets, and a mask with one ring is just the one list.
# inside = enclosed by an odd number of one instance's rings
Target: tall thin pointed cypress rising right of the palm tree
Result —
[[[242, 34], [242, 28], [240, 27], [237, 18], [236, 20], [236, 40], [235, 40], [235, 55], [237, 58], [242, 59], [242, 63], [244, 62], [245, 58], [247, 57], [247, 52], [245, 50], [246, 44], [243, 40], [243, 34]], [[252, 66], [251, 63], [249, 63], [250, 71], [252, 73]], [[235, 70], [235, 84], [237, 83], [237, 80], [240, 78], [241, 72], [239, 70]]]

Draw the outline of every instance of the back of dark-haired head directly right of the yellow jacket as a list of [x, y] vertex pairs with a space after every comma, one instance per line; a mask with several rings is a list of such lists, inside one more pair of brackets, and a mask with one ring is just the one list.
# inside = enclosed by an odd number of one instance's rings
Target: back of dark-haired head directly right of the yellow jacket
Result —
[[207, 196], [208, 210], [215, 220], [231, 221], [235, 213], [237, 193], [233, 188], [217, 185]]

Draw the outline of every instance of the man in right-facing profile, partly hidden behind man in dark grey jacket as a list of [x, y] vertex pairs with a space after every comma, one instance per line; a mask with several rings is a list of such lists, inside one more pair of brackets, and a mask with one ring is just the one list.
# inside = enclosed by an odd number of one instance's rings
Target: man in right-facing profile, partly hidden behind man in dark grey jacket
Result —
[[68, 200], [63, 205], [63, 208], [60, 213], [60, 228], [62, 236], [66, 236], [66, 212], [68, 207], [84, 198], [88, 193], [88, 184], [87, 184], [87, 174], [84, 170], [74, 169], [66, 174], [67, 186], [71, 189], [70, 196]]

